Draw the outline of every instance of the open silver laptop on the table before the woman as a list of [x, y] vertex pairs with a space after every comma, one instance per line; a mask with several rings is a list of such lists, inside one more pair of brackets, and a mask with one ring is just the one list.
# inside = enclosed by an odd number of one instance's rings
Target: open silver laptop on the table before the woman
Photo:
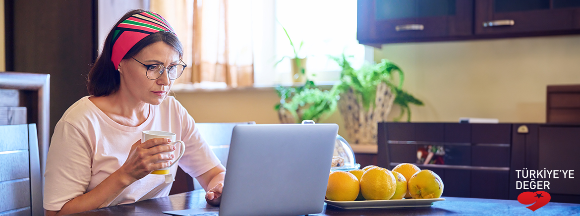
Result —
[[220, 207], [163, 213], [218, 215], [218, 210], [220, 216], [321, 213], [336, 133], [336, 124], [235, 126]]

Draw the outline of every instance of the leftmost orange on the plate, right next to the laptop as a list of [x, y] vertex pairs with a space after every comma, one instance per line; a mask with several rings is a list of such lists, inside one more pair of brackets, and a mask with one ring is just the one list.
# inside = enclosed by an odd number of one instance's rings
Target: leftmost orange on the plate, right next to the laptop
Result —
[[345, 171], [333, 171], [328, 176], [326, 197], [334, 201], [354, 201], [360, 185], [354, 174]]

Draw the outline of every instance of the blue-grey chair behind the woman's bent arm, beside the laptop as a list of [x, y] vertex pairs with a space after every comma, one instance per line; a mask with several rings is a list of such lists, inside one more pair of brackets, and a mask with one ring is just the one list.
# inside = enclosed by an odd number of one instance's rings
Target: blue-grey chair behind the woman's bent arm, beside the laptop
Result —
[[[231, 133], [236, 125], [253, 125], [255, 122], [233, 122], [233, 123], [195, 123], [195, 127], [200, 130], [202, 137], [208, 142], [213, 153], [218, 156], [224, 167], [227, 167], [227, 155], [230, 151]], [[195, 178], [185, 173], [181, 167], [177, 168], [175, 182], [169, 195], [202, 189]]]

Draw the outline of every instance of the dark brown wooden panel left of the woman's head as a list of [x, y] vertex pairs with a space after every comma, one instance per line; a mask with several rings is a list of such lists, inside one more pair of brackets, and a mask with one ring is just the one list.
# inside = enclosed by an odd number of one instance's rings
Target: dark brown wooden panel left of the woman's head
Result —
[[[86, 78], [96, 57], [93, 1], [5, 0], [12, 10], [10, 71], [50, 74], [50, 134], [64, 112], [88, 95]], [[10, 3], [8, 3], [10, 2]], [[9, 19], [9, 17], [6, 17]], [[10, 60], [9, 60], [10, 61]]]

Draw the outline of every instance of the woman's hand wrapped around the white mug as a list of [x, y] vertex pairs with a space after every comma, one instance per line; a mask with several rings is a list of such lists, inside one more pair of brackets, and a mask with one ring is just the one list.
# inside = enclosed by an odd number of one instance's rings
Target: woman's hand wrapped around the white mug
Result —
[[[122, 174], [126, 174], [129, 180], [127, 183], [132, 184], [150, 174], [153, 170], [171, 165], [171, 160], [175, 158], [175, 155], [163, 154], [162, 152], [172, 151], [175, 151], [175, 146], [171, 145], [171, 140], [168, 138], [154, 138], [143, 143], [139, 140], [131, 147], [131, 152], [129, 152], [125, 164], [121, 166], [119, 171]], [[155, 163], [159, 160], [166, 161]]]

